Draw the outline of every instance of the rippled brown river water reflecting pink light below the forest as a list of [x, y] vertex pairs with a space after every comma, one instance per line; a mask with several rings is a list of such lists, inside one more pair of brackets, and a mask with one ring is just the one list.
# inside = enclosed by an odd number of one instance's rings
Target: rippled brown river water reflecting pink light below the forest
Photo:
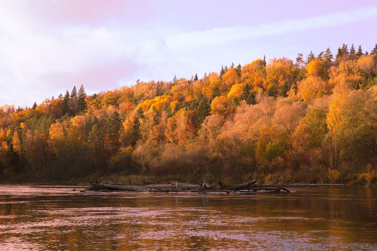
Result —
[[377, 250], [377, 190], [80, 193], [0, 185], [0, 250]]

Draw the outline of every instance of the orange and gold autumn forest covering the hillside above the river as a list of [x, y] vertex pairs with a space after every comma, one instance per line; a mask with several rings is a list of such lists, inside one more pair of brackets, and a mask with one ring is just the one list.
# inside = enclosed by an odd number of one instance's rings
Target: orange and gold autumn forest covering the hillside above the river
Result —
[[[335, 54], [335, 53], [334, 53]], [[0, 181], [377, 181], [377, 44], [0, 106]], [[73, 85], [73, 84], [72, 84]], [[71, 88], [71, 87], [70, 87]]]

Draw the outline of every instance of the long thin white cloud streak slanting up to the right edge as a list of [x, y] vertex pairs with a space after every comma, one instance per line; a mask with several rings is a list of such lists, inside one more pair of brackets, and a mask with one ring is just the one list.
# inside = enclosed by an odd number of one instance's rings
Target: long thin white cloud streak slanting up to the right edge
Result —
[[288, 19], [255, 26], [219, 27], [173, 35], [166, 39], [169, 49], [197, 47], [210, 44], [228, 43], [256, 37], [299, 32], [321, 27], [334, 27], [347, 23], [377, 18], [377, 6], [368, 6], [348, 12], [333, 12], [316, 17]]

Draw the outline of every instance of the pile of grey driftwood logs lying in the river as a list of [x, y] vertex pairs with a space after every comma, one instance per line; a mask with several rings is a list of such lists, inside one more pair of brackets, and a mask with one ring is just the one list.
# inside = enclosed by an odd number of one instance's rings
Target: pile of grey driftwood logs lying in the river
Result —
[[175, 184], [172, 183], [125, 183], [125, 184], [102, 184], [98, 181], [91, 181], [89, 190], [99, 192], [197, 192], [197, 193], [249, 193], [249, 192], [285, 192], [289, 193], [287, 189], [283, 187], [258, 187], [255, 185], [256, 179], [248, 181], [243, 184], [237, 185], [225, 185], [222, 181], [219, 184], [208, 185], [203, 181], [198, 185], [178, 186], [178, 181]]

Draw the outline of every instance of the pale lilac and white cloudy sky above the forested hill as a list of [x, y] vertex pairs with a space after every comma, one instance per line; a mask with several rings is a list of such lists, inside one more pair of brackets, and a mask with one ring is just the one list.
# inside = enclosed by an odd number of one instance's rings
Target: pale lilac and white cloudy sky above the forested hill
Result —
[[377, 43], [377, 3], [0, 0], [0, 106]]

